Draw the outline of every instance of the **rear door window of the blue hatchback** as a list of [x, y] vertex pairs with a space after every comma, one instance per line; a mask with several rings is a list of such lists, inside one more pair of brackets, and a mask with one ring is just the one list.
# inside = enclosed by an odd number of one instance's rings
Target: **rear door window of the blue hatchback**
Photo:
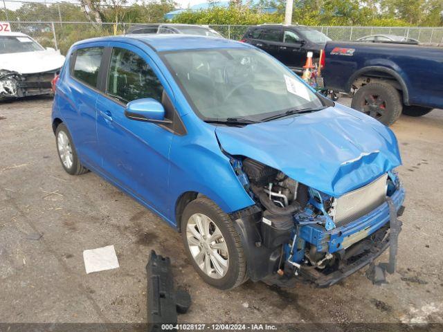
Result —
[[73, 76], [90, 86], [96, 87], [102, 55], [102, 47], [80, 48], [77, 50]]

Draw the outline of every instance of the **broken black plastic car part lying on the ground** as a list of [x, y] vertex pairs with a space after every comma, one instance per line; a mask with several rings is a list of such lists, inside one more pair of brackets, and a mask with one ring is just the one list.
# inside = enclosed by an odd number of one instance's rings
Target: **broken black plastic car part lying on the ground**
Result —
[[162, 325], [177, 324], [177, 313], [186, 313], [191, 304], [186, 291], [174, 291], [169, 257], [152, 250], [146, 265], [148, 331], [164, 331]]

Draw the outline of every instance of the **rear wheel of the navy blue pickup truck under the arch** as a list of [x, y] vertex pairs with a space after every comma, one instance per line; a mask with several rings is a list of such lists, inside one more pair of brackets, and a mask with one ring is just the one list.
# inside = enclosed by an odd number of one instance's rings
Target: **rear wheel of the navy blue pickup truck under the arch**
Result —
[[352, 98], [351, 107], [390, 126], [401, 116], [403, 104], [399, 91], [387, 83], [361, 86]]

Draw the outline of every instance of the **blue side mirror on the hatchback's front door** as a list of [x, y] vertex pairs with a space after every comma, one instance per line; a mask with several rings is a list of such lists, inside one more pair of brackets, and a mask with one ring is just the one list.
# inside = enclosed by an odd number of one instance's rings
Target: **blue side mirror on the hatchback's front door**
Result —
[[171, 120], [165, 119], [165, 109], [160, 102], [152, 98], [143, 98], [128, 102], [125, 109], [125, 116], [131, 120], [171, 123]]

